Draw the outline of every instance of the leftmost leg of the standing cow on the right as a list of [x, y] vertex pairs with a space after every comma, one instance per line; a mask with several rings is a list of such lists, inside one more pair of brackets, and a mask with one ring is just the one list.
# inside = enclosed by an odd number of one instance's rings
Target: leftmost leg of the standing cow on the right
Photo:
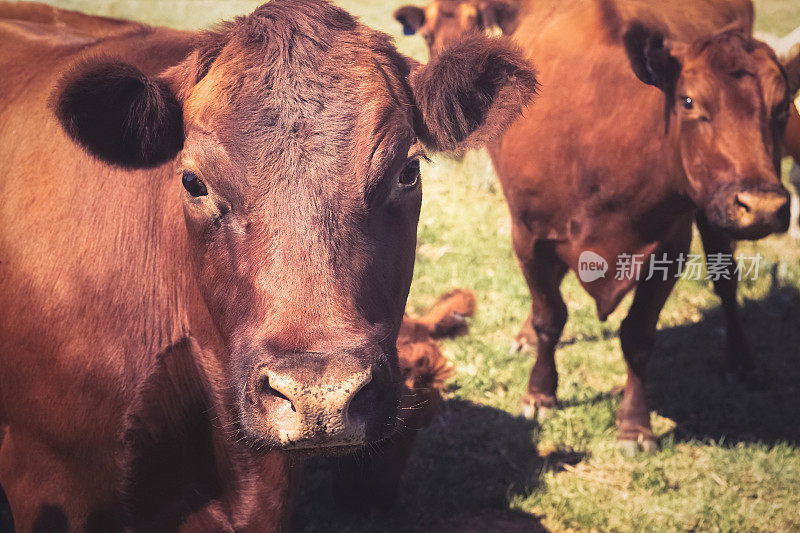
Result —
[[567, 265], [556, 256], [555, 243], [531, 242], [517, 228], [514, 248], [531, 293], [531, 314], [520, 335], [532, 334], [536, 344], [536, 362], [521, 400], [522, 414], [542, 418], [556, 407], [555, 350], [567, 322], [567, 306], [559, 287]]

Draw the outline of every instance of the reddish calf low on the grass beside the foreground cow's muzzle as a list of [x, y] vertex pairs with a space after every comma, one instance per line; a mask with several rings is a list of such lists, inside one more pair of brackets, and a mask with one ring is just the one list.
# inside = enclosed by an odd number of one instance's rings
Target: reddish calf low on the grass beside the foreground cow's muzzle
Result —
[[336, 461], [334, 496], [340, 506], [359, 512], [391, 507], [417, 433], [441, 409], [441, 390], [453, 373], [437, 339], [466, 334], [465, 318], [474, 313], [475, 297], [459, 289], [443, 295], [424, 316], [403, 317], [397, 338], [405, 382], [399, 413], [401, 429], [364, 452]]

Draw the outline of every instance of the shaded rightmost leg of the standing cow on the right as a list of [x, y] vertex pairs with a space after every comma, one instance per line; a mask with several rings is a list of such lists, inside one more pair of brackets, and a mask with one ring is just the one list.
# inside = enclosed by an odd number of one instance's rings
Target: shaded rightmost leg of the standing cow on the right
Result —
[[739, 304], [736, 301], [736, 264], [733, 253], [736, 249], [735, 242], [723, 231], [712, 227], [705, 217], [697, 217], [697, 228], [703, 240], [706, 252], [706, 261], [712, 254], [722, 254], [729, 259], [720, 262], [720, 272], [714, 280], [714, 292], [722, 301], [722, 311], [725, 315], [725, 366], [727, 374], [734, 380], [748, 381], [751, 378], [754, 364], [753, 352], [739, 316]]

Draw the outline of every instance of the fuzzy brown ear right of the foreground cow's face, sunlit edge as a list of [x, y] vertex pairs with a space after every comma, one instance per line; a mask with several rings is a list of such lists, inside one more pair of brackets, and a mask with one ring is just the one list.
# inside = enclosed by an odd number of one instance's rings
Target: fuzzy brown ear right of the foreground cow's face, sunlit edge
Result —
[[469, 35], [412, 71], [415, 130], [433, 150], [462, 153], [500, 135], [533, 98], [533, 66], [508, 39]]

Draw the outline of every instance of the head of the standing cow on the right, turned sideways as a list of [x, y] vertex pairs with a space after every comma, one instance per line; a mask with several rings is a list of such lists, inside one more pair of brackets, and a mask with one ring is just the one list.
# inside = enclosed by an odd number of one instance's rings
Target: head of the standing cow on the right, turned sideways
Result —
[[740, 28], [690, 44], [634, 23], [624, 36], [636, 76], [665, 95], [689, 194], [739, 239], [786, 231], [780, 157], [789, 84], [772, 50]]

